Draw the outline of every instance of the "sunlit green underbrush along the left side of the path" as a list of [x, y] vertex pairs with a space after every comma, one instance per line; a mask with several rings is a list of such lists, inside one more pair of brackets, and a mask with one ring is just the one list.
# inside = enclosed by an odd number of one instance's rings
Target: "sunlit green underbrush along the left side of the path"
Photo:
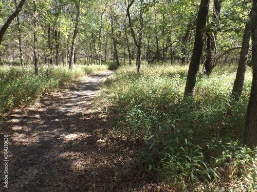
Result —
[[40, 67], [40, 74], [35, 75], [32, 67], [23, 70], [20, 67], [0, 67], [0, 114], [12, 110], [15, 106], [25, 106], [40, 99], [45, 93], [67, 86], [72, 81], [90, 73], [105, 71], [107, 66], [75, 65], [72, 71], [67, 67]]

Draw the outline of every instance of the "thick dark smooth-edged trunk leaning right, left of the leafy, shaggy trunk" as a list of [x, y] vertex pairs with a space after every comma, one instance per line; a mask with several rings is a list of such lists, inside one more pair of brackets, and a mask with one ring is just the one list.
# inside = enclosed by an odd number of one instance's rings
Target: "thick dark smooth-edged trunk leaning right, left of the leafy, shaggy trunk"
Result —
[[209, 0], [201, 0], [200, 8], [197, 16], [196, 33], [193, 55], [188, 70], [188, 77], [185, 88], [185, 95], [194, 94], [196, 76], [199, 70], [200, 58], [204, 46], [204, 30], [206, 28], [206, 20], [209, 10]]

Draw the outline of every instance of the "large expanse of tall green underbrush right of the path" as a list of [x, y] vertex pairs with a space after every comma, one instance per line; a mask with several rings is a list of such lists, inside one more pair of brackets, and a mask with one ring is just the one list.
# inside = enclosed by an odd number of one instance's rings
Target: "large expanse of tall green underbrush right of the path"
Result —
[[256, 150], [242, 145], [251, 87], [247, 71], [241, 100], [230, 105], [236, 68], [197, 77], [194, 98], [183, 99], [187, 67], [122, 66], [105, 83], [112, 123], [140, 141], [142, 166], [169, 186], [194, 191], [257, 190]]

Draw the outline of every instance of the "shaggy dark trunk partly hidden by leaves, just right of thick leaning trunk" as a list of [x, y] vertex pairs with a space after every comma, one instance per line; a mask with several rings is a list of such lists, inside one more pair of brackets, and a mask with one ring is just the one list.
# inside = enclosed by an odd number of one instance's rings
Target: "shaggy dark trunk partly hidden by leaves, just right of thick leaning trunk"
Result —
[[[219, 24], [219, 14], [221, 13], [221, 3], [223, 0], [214, 0], [214, 6], [213, 6], [213, 15], [212, 20], [215, 26], [218, 26]], [[214, 59], [215, 59], [215, 53], [216, 50], [216, 37], [217, 37], [217, 31], [211, 32], [210, 29], [208, 29], [207, 33], [207, 40], [206, 40], [206, 61], [204, 64], [203, 74], [210, 75], [212, 72], [212, 69], [214, 66]]]

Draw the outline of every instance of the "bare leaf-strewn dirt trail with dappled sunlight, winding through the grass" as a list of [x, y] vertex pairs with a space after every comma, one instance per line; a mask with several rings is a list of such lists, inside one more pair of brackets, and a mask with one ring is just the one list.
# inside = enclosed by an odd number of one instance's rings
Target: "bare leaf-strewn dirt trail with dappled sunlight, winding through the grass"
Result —
[[111, 73], [85, 77], [7, 116], [1, 135], [8, 135], [8, 188], [1, 182], [0, 191], [160, 191], [135, 161], [137, 146], [113, 133], [104, 103], [93, 106]]

